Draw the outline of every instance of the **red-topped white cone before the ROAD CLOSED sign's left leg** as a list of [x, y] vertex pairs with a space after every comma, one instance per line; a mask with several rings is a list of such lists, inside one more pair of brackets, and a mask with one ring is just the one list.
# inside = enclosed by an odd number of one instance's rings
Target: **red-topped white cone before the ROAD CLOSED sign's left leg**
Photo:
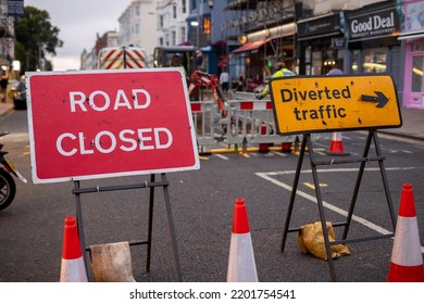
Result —
[[65, 218], [63, 230], [61, 282], [87, 282], [75, 217]]

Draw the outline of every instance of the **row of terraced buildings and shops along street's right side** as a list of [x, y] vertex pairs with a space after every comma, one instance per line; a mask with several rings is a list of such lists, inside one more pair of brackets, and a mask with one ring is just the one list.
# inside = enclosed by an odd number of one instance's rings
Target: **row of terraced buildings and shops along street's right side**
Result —
[[346, 74], [389, 74], [402, 106], [424, 109], [424, 0], [153, 1], [157, 35], [130, 21], [141, 2], [120, 18], [121, 45], [146, 47], [139, 33], [154, 37], [151, 49], [196, 46], [201, 68], [242, 76], [247, 90], [267, 80], [277, 61], [298, 75], [326, 75], [333, 63]]

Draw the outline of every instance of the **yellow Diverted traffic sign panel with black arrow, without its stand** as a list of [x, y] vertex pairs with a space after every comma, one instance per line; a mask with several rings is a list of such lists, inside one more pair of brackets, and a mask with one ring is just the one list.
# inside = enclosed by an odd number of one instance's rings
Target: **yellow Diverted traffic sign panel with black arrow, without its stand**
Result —
[[402, 126], [389, 75], [284, 77], [270, 86], [279, 135]]

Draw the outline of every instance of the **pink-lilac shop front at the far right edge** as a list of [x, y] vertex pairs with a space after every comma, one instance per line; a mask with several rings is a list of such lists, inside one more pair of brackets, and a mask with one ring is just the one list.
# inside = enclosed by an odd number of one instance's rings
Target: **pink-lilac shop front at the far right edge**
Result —
[[403, 1], [399, 40], [404, 50], [402, 106], [424, 110], [424, 1]]

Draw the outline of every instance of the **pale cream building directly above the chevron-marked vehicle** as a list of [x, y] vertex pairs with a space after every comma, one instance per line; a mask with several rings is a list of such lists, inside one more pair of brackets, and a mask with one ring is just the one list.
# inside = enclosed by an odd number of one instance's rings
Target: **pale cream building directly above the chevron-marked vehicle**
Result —
[[140, 47], [148, 55], [157, 46], [157, 1], [133, 0], [119, 18], [120, 46]]

